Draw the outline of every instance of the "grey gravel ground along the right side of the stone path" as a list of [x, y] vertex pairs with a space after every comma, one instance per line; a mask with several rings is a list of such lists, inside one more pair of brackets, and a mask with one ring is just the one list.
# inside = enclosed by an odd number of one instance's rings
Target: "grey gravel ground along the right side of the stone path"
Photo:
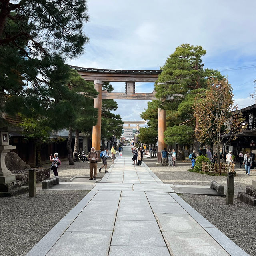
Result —
[[[175, 167], [156, 166], [156, 158], [145, 158], [144, 162], [165, 184], [209, 185], [212, 180], [225, 186], [227, 177], [208, 176], [196, 172], [188, 172], [191, 167], [188, 162], [176, 162]], [[244, 169], [236, 166], [234, 198], [237, 192], [245, 192], [246, 186], [256, 180], [256, 171], [245, 175]], [[202, 216], [221, 230], [228, 238], [245, 250], [249, 255], [256, 256], [256, 206], [251, 206], [234, 199], [233, 205], [226, 204], [226, 198], [219, 196], [205, 196], [180, 194], [180, 197], [197, 210]]]

